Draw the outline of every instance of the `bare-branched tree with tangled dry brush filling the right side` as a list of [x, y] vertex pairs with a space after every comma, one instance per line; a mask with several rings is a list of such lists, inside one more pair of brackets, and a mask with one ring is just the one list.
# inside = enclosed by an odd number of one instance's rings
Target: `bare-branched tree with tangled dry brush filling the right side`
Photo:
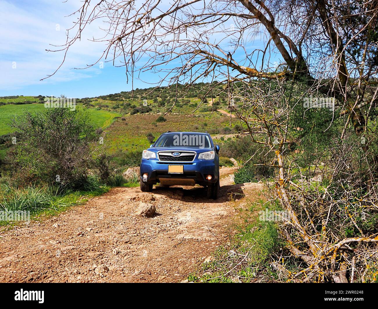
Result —
[[[175, 106], [181, 105], [182, 90], [191, 88], [191, 83], [179, 86], [177, 81], [211, 78], [214, 82], [201, 85], [204, 93], [197, 98], [206, 103], [215, 93], [220, 104], [225, 91], [219, 87], [226, 82], [230, 109], [235, 109], [250, 141], [258, 146], [243, 160], [249, 160], [251, 168], [260, 164], [252, 165], [251, 160], [274, 168], [270, 200], [279, 201], [290, 215], [290, 224], [277, 223], [280, 237], [288, 243], [281, 278], [376, 281], [378, 226], [372, 226], [378, 204], [376, 3], [251, 0], [222, 5], [209, 1], [201, 6], [176, 1], [169, 8], [162, 3], [151, 8], [146, 1], [134, 9], [135, 4], [129, 3], [129, 18], [124, 18], [107, 3], [90, 10], [84, 3], [73, 26], [76, 35], [67, 37], [63, 49], [105, 17], [109, 29], [116, 31], [99, 39], [108, 43], [104, 52], [114, 61], [123, 58], [121, 65], [133, 76], [147, 70], [164, 72], [160, 82], [170, 78]], [[141, 18], [153, 27], [141, 31]], [[195, 33], [195, 38], [177, 40], [187, 32]], [[252, 50], [246, 37], [263, 42]], [[150, 53], [144, 57], [146, 46]], [[145, 59], [138, 69], [135, 57]], [[272, 59], [277, 59], [276, 65]], [[171, 101], [160, 97], [158, 103]], [[203, 113], [214, 107], [197, 106], [196, 111]], [[240, 151], [240, 156], [245, 154]], [[243, 170], [240, 174], [251, 178]], [[292, 260], [301, 261], [294, 271], [287, 263]]]

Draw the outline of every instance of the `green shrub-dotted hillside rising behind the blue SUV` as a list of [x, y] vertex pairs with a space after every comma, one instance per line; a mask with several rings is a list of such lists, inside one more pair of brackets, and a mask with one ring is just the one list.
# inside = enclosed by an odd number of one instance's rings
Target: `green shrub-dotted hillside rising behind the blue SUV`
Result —
[[[104, 139], [113, 153], [140, 151], [150, 145], [151, 136], [156, 138], [166, 131], [237, 133], [240, 131], [239, 121], [232, 118], [230, 128], [229, 117], [224, 112], [228, 108], [225, 85], [216, 86], [205, 97], [208, 86], [198, 83], [186, 89], [184, 85], [178, 85], [177, 96], [180, 99], [176, 103], [176, 87], [172, 86], [77, 98], [76, 105], [87, 109], [95, 126], [105, 129]], [[13, 115], [25, 110], [43, 111], [44, 106], [39, 102], [43, 102], [44, 98], [42, 95], [0, 97], [0, 135], [12, 132], [8, 125]], [[169, 114], [158, 120], [174, 103]], [[225, 114], [217, 112], [217, 109]]]

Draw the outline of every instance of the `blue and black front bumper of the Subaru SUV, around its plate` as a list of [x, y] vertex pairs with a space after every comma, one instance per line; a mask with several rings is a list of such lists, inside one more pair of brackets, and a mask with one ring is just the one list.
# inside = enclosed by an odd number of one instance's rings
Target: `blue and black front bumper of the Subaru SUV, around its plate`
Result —
[[[183, 165], [183, 174], [169, 174], [168, 165]], [[148, 183], [161, 182], [160, 179], [170, 179], [172, 182], [177, 180], [190, 180], [197, 184], [215, 183], [219, 178], [219, 165], [216, 160], [195, 160], [191, 163], [180, 162], [162, 162], [158, 159], [142, 159], [140, 166], [140, 177], [147, 173]], [[212, 175], [211, 180], [205, 179], [206, 175]], [[146, 180], [144, 180], [146, 181]]]

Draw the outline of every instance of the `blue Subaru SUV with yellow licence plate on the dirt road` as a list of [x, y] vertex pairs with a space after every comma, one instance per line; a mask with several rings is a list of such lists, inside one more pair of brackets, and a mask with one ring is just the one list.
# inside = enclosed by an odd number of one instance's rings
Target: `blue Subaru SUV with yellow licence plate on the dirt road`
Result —
[[210, 134], [198, 132], [163, 133], [142, 153], [140, 187], [151, 192], [153, 184], [163, 186], [201, 186], [208, 198], [219, 195], [219, 146]]

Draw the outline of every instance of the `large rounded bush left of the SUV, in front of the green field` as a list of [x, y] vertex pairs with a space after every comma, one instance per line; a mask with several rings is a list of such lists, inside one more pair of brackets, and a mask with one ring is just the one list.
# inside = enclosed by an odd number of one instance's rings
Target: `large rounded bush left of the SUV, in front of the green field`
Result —
[[11, 119], [17, 144], [9, 151], [13, 179], [25, 185], [46, 183], [60, 189], [80, 188], [98, 134], [82, 109], [26, 111]]

